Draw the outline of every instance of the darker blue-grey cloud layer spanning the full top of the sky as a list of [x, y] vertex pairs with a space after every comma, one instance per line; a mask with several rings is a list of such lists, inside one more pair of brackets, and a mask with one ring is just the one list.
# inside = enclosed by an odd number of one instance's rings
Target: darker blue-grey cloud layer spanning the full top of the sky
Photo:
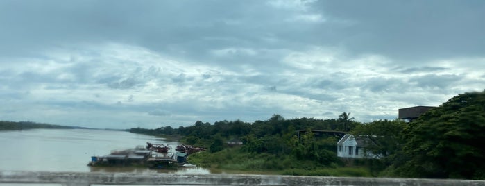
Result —
[[[0, 23], [9, 26], [0, 37], [17, 52], [59, 41], [117, 40], [173, 55], [185, 51], [185, 58], [219, 63], [227, 61], [201, 51], [338, 45], [355, 54], [386, 53], [410, 61], [485, 53], [483, 1], [317, 1], [305, 11], [272, 8], [262, 1], [2, 3]], [[288, 24], [282, 19], [299, 14], [321, 14], [329, 20]], [[262, 40], [265, 37], [274, 40]], [[3, 53], [12, 51], [1, 46]], [[234, 60], [258, 66], [267, 62], [259, 56]]]

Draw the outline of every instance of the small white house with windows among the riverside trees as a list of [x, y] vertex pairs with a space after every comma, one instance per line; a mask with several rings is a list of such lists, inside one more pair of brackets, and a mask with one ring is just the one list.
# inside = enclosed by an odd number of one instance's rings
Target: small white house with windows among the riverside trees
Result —
[[364, 151], [366, 147], [364, 137], [344, 135], [337, 142], [337, 156], [341, 158], [377, 158], [376, 155]]

